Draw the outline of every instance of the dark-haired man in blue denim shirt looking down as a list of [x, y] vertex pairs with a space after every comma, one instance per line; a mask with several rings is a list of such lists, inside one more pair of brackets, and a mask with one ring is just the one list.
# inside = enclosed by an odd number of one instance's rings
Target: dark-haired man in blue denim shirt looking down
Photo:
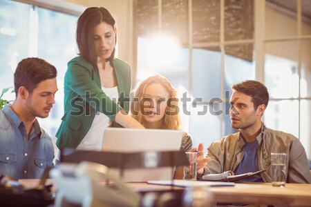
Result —
[[19, 62], [14, 74], [16, 99], [0, 111], [0, 174], [39, 178], [53, 166], [54, 147], [36, 117], [48, 117], [55, 103], [57, 70], [39, 58]]

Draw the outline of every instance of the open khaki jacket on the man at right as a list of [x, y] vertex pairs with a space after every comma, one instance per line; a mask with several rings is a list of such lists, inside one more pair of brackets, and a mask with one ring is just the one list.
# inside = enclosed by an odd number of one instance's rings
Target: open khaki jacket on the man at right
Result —
[[[263, 181], [272, 181], [271, 152], [286, 153], [286, 172], [288, 183], [310, 184], [309, 163], [299, 139], [285, 132], [266, 128], [263, 124], [258, 141], [258, 170], [266, 170], [261, 174]], [[207, 162], [204, 174], [234, 171], [244, 157], [245, 142], [241, 132], [228, 135], [220, 141], [214, 141], [207, 149]]]

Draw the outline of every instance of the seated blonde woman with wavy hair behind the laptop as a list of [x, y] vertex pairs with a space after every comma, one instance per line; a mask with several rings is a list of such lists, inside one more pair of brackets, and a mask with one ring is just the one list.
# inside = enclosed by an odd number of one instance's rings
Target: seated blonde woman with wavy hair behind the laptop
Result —
[[[138, 84], [131, 102], [131, 114], [145, 128], [182, 130], [177, 91], [168, 79], [160, 75]], [[180, 150], [189, 151], [191, 148], [191, 137], [184, 132]], [[182, 179], [182, 176], [182, 167], [177, 168], [174, 178]]]

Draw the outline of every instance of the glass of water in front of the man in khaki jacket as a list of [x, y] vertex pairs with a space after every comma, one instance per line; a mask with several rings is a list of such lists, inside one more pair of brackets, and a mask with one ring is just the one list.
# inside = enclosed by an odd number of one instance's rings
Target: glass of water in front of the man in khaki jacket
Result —
[[271, 153], [272, 186], [284, 187], [286, 182], [286, 154]]

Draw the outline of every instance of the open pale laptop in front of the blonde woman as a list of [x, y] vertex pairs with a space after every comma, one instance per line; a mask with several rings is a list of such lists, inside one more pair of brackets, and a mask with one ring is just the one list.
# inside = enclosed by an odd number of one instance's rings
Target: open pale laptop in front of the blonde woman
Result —
[[[102, 150], [106, 152], [154, 152], [180, 150], [182, 131], [130, 128], [106, 128]], [[120, 170], [109, 168], [109, 173], [120, 177]], [[169, 167], [126, 169], [123, 181], [167, 180], [173, 177]]]

